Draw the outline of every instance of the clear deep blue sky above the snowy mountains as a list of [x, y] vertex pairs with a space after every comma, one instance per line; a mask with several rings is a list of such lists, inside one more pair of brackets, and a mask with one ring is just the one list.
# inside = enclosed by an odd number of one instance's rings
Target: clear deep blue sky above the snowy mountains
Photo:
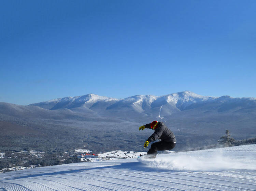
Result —
[[256, 1], [0, 1], [0, 102], [256, 97]]

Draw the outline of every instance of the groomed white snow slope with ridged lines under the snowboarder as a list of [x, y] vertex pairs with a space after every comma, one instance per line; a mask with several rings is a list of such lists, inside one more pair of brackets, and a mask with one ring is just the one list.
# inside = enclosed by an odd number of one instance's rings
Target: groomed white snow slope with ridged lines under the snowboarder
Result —
[[256, 145], [0, 174], [0, 190], [256, 190]]

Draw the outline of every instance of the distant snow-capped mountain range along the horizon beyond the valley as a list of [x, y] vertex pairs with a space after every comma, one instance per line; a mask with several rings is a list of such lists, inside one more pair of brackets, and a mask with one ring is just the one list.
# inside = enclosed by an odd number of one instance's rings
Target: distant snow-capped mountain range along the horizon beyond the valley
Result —
[[[143, 119], [157, 117], [163, 119], [181, 111], [194, 109], [196, 115], [222, 111], [252, 110], [256, 108], [255, 98], [231, 98], [230, 96], [203, 96], [191, 91], [182, 91], [162, 96], [134, 95], [124, 99], [109, 98], [95, 94], [59, 98], [29, 106], [39, 106], [49, 110], [69, 109], [86, 114], [122, 119]], [[191, 113], [191, 112], [190, 112]]]

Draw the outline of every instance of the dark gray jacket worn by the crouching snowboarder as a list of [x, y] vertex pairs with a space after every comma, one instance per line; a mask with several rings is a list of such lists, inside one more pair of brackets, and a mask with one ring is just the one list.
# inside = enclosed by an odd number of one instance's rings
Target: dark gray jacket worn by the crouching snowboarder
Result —
[[[151, 129], [150, 123], [144, 125], [145, 128]], [[152, 142], [157, 139], [161, 139], [164, 142], [176, 142], [176, 138], [171, 130], [163, 124], [163, 122], [158, 122], [158, 127], [155, 129], [155, 133], [153, 133], [150, 137], [148, 137], [148, 141]]]

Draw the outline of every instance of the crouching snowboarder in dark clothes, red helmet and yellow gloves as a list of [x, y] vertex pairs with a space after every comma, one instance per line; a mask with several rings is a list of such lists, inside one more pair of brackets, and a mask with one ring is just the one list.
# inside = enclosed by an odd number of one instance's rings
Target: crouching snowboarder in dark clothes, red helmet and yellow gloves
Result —
[[153, 121], [152, 123], [148, 123], [146, 125], [140, 126], [140, 130], [145, 128], [155, 130], [155, 132], [148, 137], [146, 142], [144, 143], [144, 148], [148, 146], [148, 144], [157, 139], [161, 139], [159, 142], [155, 142], [151, 145], [151, 148], [148, 150], [146, 158], [156, 158], [157, 151], [165, 151], [171, 150], [174, 148], [176, 144], [176, 138], [171, 130], [163, 124], [163, 122]]

